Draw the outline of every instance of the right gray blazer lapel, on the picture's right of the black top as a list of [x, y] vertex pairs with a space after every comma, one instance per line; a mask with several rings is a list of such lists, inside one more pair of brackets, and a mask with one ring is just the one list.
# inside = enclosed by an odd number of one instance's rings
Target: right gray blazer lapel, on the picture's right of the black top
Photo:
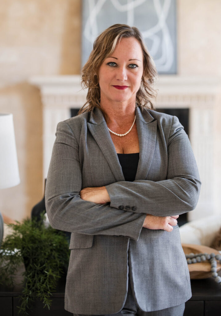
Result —
[[153, 159], [156, 137], [157, 137], [157, 121], [152, 115], [144, 109], [136, 108], [136, 125], [139, 138], [139, 163], [135, 180], [145, 180], [150, 170]]

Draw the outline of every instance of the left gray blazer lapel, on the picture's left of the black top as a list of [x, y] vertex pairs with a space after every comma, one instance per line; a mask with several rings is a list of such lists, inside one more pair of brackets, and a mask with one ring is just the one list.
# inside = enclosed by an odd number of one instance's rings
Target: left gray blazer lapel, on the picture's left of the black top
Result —
[[125, 181], [114, 143], [107, 129], [106, 121], [98, 108], [95, 108], [94, 111], [91, 112], [91, 117], [87, 125], [96, 143], [100, 147], [101, 152], [106, 158], [116, 181]]

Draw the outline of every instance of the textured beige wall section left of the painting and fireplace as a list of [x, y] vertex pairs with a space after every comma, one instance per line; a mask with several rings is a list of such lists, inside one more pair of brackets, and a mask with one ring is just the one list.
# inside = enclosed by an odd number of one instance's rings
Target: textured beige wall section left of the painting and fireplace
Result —
[[42, 199], [42, 104], [33, 75], [80, 73], [80, 0], [0, 5], [0, 112], [14, 116], [21, 183], [0, 191], [0, 211], [29, 216]]

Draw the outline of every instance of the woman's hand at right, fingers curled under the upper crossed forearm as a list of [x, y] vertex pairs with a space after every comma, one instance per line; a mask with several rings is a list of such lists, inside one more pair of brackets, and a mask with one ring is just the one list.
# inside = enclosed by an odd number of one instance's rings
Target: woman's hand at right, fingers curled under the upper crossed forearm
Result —
[[167, 232], [172, 232], [173, 226], [177, 225], [177, 218], [179, 215], [175, 216], [154, 216], [147, 214], [144, 220], [143, 227], [149, 229], [163, 229]]

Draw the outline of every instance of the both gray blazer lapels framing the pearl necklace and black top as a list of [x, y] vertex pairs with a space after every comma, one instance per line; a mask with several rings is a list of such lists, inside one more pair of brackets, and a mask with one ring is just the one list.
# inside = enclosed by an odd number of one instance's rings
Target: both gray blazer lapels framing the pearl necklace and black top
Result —
[[[135, 180], [142, 180], [146, 179], [152, 162], [157, 136], [157, 121], [154, 120], [152, 115], [146, 109], [141, 111], [139, 107], [136, 107], [135, 113], [140, 148], [139, 163]], [[87, 125], [96, 143], [100, 147], [101, 152], [106, 158], [116, 181], [125, 181], [114, 143], [100, 109], [95, 108], [93, 112], [91, 112]]]

